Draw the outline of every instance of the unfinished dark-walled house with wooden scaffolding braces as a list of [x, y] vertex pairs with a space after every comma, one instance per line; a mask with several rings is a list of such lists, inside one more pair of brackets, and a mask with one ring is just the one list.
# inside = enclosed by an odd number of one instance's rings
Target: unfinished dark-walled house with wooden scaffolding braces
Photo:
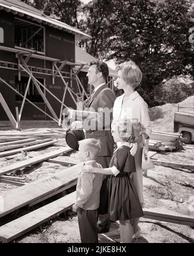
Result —
[[0, 0], [0, 120], [60, 123], [65, 106], [87, 99], [86, 63], [76, 60], [76, 41], [89, 38], [19, 0]]

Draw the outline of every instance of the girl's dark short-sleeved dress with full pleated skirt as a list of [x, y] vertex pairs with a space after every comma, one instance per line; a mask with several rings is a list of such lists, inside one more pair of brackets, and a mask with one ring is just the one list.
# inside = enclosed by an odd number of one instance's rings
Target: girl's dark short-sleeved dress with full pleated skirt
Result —
[[131, 148], [122, 145], [111, 159], [110, 167], [115, 166], [120, 174], [106, 175], [100, 191], [100, 207], [98, 213], [109, 213], [111, 220], [129, 220], [143, 216], [142, 205], [135, 187], [130, 179], [135, 172], [135, 159], [131, 156]]

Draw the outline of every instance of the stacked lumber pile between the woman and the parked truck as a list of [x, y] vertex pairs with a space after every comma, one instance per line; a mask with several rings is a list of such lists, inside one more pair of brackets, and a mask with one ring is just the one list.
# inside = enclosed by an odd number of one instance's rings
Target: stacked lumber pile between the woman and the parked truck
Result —
[[149, 150], [174, 151], [182, 150], [180, 134], [153, 131], [149, 138]]

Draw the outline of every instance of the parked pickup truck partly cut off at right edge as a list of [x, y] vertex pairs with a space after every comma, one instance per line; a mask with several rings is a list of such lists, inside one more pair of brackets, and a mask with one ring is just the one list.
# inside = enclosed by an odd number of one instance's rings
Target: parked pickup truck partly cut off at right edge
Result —
[[182, 134], [182, 141], [186, 144], [194, 142], [194, 114], [175, 112], [174, 132]]

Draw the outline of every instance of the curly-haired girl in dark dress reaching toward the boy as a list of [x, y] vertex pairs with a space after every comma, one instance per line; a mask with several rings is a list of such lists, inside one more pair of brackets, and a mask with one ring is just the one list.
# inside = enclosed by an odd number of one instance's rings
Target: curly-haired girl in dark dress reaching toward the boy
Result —
[[120, 241], [131, 242], [134, 233], [131, 220], [144, 215], [130, 178], [131, 173], [135, 172], [135, 159], [130, 150], [136, 137], [129, 120], [113, 122], [112, 134], [114, 142], [120, 142], [121, 146], [114, 151], [110, 167], [100, 169], [85, 165], [82, 170], [108, 174], [103, 181], [99, 213], [109, 213], [111, 220], [119, 220]]

